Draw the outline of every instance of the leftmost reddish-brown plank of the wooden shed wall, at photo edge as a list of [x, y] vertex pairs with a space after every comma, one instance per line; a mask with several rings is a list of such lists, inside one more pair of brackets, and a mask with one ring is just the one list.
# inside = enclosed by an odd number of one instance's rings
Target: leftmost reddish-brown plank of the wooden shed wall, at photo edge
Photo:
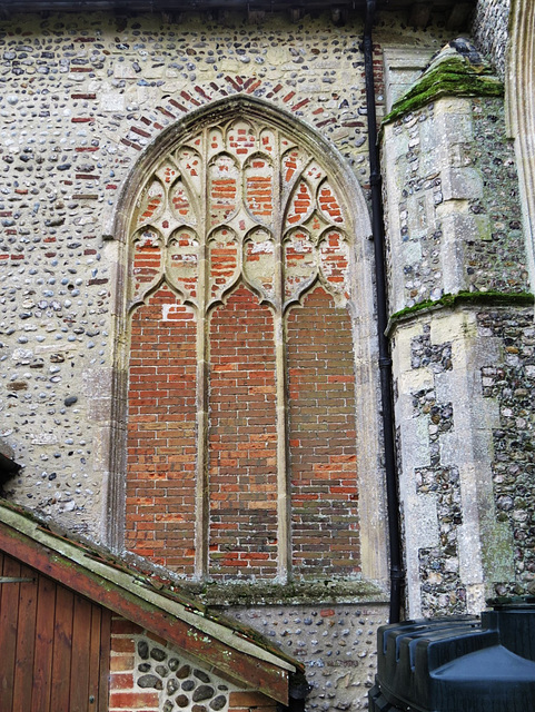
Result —
[[[20, 564], [6, 557], [3, 576], [20, 576]], [[0, 585], [0, 710], [13, 708], [14, 660], [17, 655], [17, 624], [19, 619], [19, 583]]]

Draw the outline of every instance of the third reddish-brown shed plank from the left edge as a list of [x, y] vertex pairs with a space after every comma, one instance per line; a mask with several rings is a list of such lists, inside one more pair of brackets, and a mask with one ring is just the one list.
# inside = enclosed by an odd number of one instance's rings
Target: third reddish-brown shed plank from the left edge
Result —
[[39, 576], [31, 712], [50, 712], [55, 610], [56, 585], [47, 576]]

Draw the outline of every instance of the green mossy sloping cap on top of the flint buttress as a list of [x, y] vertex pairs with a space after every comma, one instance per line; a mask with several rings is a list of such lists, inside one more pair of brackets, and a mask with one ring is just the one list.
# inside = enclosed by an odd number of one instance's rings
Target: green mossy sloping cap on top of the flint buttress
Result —
[[440, 97], [502, 97], [503, 82], [488, 71], [487, 68], [475, 68], [459, 55], [447, 56], [424, 72], [394, 103], [383, 123], [395, 121]]

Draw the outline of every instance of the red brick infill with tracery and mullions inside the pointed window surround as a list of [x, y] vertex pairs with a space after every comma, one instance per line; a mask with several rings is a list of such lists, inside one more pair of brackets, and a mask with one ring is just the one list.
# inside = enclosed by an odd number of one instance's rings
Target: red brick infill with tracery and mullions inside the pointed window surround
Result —
[[196, 578], [358, 573], [351, 216], [321, 156], [207, 120], [129, 251], [127, 547]]

